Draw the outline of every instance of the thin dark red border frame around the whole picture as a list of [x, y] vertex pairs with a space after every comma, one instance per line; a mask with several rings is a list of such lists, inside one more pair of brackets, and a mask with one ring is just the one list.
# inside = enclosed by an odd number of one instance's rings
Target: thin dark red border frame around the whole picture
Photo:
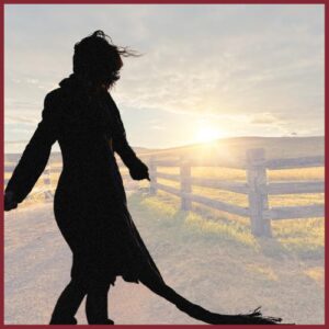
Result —
[[[329, 184], [327, 182], [327, 177], [328, 177], [328, 164], [329, 164], [329, 157], [327, 154], [327, 146], [329, 145], [329, 134], [327, 134], [327, 127], [328, 127], [328, 114], [327, 114], [327, 107], [328, 107], [328, 94], [329, 94], [329, 84], [328, 84], [328, 47], [329, 47], [329, 0], [206, 0], [206, 1], [197, 1], [197, 0], [163, 0], [163, 1], [151, 1], [151, 0], [129, 0], [129, 1], [124, 1], [124, 0], [0, 0], [0, 44], [1, 44], [1, 57], [0, 57], [0, 75], [1, 75], [1, 90], [0, 90], [0, 110], [1, 110], [1, 115], [0, 115], [0, 129], [1, 129], [1, 138], [0, 138], [0, 147], [2, 149], [2, 152], [0, 155], [0, 171], [3, 172], [4, 169], [4, 5], [5, 4], [83, 4], [83, 3], [92, 3], [92, 4], [100, 4], [100, 3], [122, 3], [122, 4], [133, 4], [133, 3], [156, 3], [156, 4], [169, 4], [169, 3], [181, 3], [181, 4], [191, 4], [191, 3], [196, 3], [196, 4], [209, 4], [209, 3], [218, 3], [218, 4], [324, 4], [325, 5], [325, 200], [326, 195], [328, 195], [329, 192]], [[3, 175], [1, 175], [0, 179], [1, 186], [3, 186]], [[327, 215], [328, 215], [328, 204], [327, 202], [325, 203], [325, 324], [324, 325], [299, 325], [299, 326], [292, 326], [292, 325], [285, 325], [285, 328], [296, 328], [296, 327], [303, 327], [303, 328], [327, 328], [328, 327], [328, 319], [329, 319], [329, 307], [328, 307], [328, 227], [329, 227], [329, 219], [326, 220]], [[1, 193], [1, 200], [0, 200], [0, 212], [1, 212], [1, 220], [0, 220], [0, 279], [1, 279], [1, 284], [0, 284], [0, 328], [48, 328], [48, 325], [4, 325], [4, 226], [3, 226], [3, 194]], [[84, 325], [87, 326], [87, 325]], [[56, 328], [77, 328], [76, 326], [56, 326]], [[89, 325], [88, 327], [92, 328], [105, 328], [105, 326], [91, 326]], [[204, 329], [208, 327], [208, 325], [125, 325], [121, 326], [122, 328], [162, 328], [162, 327], [172, 327], [172, 328], [190, 328], [193, 327], [195, 329]], [[211, 326], [211, 327], [217, 327], [217, 326]], [[242, 328], [243, 325], [223, 325], [220, 328]], [[246, 327], [246, 326], [245, 326]], [[252, 328], [253, 326], [247, 326], [248, 328]], [[269, 326], [257, 326], [257, 328], [268, 328]], [[328, 327], [329, 328], [329, 327]]]

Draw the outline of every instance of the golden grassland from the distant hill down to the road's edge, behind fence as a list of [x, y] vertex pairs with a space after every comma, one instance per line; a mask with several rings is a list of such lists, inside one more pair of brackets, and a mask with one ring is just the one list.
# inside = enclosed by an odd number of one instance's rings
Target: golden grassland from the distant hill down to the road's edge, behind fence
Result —
[[[246, 149], [263, 148], [266, 159], [271, 158], [290, 158], [305, 156], [324, 155], [324, 137], [238, 137], [217, 140], [208, 145], [193, 145], [188, 147], [172, 148], [169, 151], [178, 156], [189, 156], [194, 159], [201, 158], [246, 158]], [[147, 150], [143, 150], [144, 152]], [[157, 154], [157, 150], [154, 150]], [[160, 151], [161, 154], [162, 151]], [[18, 160], [18, 155], [7, 157], [8, 161]], [[53, 159], [53, 160], [52, 160]], [[50, 163], [59, 164], [59, 155], [53, 154]], [[58, 162], [59, 161], [59, 162]], [[158, 171], [179, 174], [179, 168], [158, 168]], [[128, 174], [126, 168], [122, 168], [123, 174]], [[220, 167], [194, 167], [191, 172], [192, 177], [227, 180], [229, 182], [246, 182], [246, 170], [228, 169]], [[324, 181], [325, 168], [302, 168], [288, 170], [268, 170], [269, 182], [287, 182], [287, 181]], [[9, 173], [4, 173], [4, 178], [9, 178]], [[53, 188], [56, 188], [59, 173], [52, 174]], [[159, 183], [180, 188], [179, 182], [158, 179]], [[35, 190], [42, 189], [43, 179], [39, 178], [35, 185]], [[125, 181], [127, 189], [136, 189], [137, 186], [148, 189], [148, 182], [141, 181], [134, 184], [132, 180]], [[213, 200], [224, 201], [241, 207], [248, 207], [248, 196], [245, 194], [232, 193], [218, 189], [208, 189], [201, 186], [192, 186], [192, 193], [207, 196]], [[32, 195], [23, 204], [39, 202], [44, 198], [43, 194]], [[270, 195], [269, 206], [298, 206], [324, 204], [324, 193], [311, 194], [284, 194]], [[169, 212], [171, 216], [178, 216], [180, 200], [166, 192], [159, 191], [157, 196], [145, 197], [144, 204], [150, 208], [157, 208], [159, 212]], [[181, 214], [179, 216], [182, 216]], [[220, 236], [226, 240], [246, 246], [248, 248], [260, 248], [259, 239], [250, 234], [250, 220], [246, 217], [236, 216], [225, 212], [214, 211], [206, 206], [192, 204], [192, 212], [184, 214], [184, 223], [189, 227], [193, 227], [202, 235]], [[272, 223], [273, 239], [266, 239], [269, 245], [268, 251], [273, 254], [288, 253], [296, 257], [321, 259], [324, 257], [324, 218], [307, 219], [290, 219], [277, 220]], [[263, 242], [262, 242], [263, 243]]]

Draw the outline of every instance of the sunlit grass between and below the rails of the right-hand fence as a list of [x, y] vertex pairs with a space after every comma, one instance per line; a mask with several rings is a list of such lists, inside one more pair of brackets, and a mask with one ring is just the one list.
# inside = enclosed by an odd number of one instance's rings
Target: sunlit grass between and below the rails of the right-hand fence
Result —
[[[161, 168], [162, 172], [174, 173], [171, 168]], [[177, 172], [175, 172], [177, 173]], [[242, 181], [245, 171], [220, 169], [200, 169], [192, 172], [193, 175], [207, 178], [225, 178], [230, 181]], [[269, 171], [269, 181], [302, 181], [324, 180], [324, 168], [293, 169]], [[180, 188], [179, 182], [158, 180], [160, 183]], [[247, 195], [228, 191], [193, 186], [193, 193], [204, 195], [214, 200], [248, 207]], [[324, 193], [284, 194], [270, 195], [269, 205], [274, 206], [298, 206], [324, 204]], [[191, 212], [181, 212], [180, 198], [158, 191], [156, 196], [146, 196], [140, 201], [140, 206], [151, 212], [161, 214], [163, 220], [179, 220], [186, 229], [197, 232], [201, 238], [219, 238], [240, 245], [253, 250], [265, 250], [272, 256], [292, 256], [300, 259], [321, 259], [325, 246], [325, 220], [324, 218], [296, 218], [272, 222], [273, 239], [254, 238], [250, 232], [249, 218], [212, 209], [206, 206], [192, 203]], [[171, 218], [171, 219], [169, 219]]]

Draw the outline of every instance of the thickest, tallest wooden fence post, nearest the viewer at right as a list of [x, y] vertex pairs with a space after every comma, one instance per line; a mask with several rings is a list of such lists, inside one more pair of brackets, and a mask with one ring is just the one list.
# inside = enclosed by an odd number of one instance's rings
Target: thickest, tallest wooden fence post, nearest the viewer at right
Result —
[[269, 208], [265, 150], [263, 148], [248, 149], [246, 155], [251, 232], [254, 236], [271, 237], [271, 219], [264, 218], [264, 211]]

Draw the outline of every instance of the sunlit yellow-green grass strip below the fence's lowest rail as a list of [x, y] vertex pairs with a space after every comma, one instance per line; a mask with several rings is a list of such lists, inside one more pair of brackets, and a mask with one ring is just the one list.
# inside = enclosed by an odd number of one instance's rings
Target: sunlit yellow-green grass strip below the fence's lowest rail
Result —
[[179, 211], [179, 200], [159, 192], [157, 196], [144, 196], [140, 206], [157, 217], [163, 225], [175, 222], [200, 239], [220, 239], [235, 246], [263, 250], [270, 256], [291, 256], [300, 259], [324, 257], [324, 219], [291, 219], [272, 223], [273, 238], [256, 238], [250, 232], [249, 219], [224, 212], [194, 205], [194, 212]]

